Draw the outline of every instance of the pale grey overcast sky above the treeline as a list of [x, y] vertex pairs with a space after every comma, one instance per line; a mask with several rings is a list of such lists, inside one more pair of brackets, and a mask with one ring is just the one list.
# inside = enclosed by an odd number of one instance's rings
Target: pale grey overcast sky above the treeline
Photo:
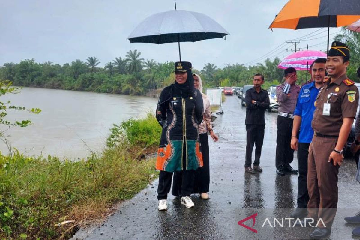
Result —
[[[202, 69], [205, 63], [215, 63], [222, 68], [228, 63], [242, 64], [256, 59], [258, 61], [253, 63], [262, 62], [267, 56], [272, 59], [278, 55], [282, 59], [290, 54], [286, 47], [290, 49], [291, 44], [282, 45], [272, 54], [266, 53], [286, 40], [317, 30], [269, 30], [269, 25], [287, 0], [176, 2], [178, 10], [206, 14], [231, 34], [226, 40], [181, 43], [182, 60], [192, 62], [197, 69]], [[157, 62], [179, 59], [176, 43], [130, 44], [127, 40], [132, 30], [149, 15], [173, 10], [174, 1], [171, 0], [3, 0], [0, 8], [0, 65], [32, 58], [41, 63], [64, 64], [96, 56], [101, 62], [99, 66], [103, 66], [135, 49], [143, 58]], [[320, 44], [310, 49], [326, 50], [325, 30], [319, 30], [317, 36], [310, 37], [313, 40], [301, 41], [298, 46]], [[330, 33], [340, 30], [334, 28]], [[314, 39], [316, 37], [320, 38]]]

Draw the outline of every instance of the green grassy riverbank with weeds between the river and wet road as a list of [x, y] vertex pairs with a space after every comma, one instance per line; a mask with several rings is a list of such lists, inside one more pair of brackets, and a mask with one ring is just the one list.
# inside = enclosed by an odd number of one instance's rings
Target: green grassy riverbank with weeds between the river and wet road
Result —
[[[157, 177], [155, 159], [144, 155], [157, 148], [160, 132], [149, 114], [114, 126], [101, 157], [0, 155], [0, 239], [68, 239], [107, 216]], [[55, 226], [64, 221], [73, 222]]]

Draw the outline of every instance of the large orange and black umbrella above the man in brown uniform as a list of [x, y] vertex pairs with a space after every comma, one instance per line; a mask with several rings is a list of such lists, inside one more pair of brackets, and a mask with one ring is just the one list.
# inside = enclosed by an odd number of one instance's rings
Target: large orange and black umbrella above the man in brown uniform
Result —
[[360, 19], [360, 0], [290, 0], [269, 28], [342, 27]]

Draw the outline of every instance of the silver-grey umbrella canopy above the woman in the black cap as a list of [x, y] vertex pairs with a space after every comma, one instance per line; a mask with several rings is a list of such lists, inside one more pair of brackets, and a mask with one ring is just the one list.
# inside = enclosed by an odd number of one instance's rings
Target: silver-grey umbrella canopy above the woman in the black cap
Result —
[[207, 15], [172, 10], [146, 18], [127, 38], [130, 42], [168, 43], [196, 42], [228, 35], [219, 23]]

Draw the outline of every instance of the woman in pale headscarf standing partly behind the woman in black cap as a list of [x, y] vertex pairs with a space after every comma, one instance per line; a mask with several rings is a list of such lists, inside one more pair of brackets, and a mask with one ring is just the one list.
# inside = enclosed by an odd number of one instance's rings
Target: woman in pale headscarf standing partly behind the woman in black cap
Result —
[[[212, 122], [211, 122], [211, 110], [210, 110], [210, 100], [208, 97], [202, 92], [202, 81], [201, 77], [198, 74], [193, 74], [194, 78], [194, 86], [201, 92], [201, 96], [204, 103], [204, 116], [202, 122], [199, 126], [199, 136], [200, 136], [200, 144], [201, 151], [203, 154], [203, 162], [204, 166], [200, 167], [195, 171], [194, 177], [194, 190], [192, 193], [200, 194], [202, 199], [209, 198], [209, 185], [210, 185], [210, 163], [209, 163], [209, 140], [207, 136], [207, 132], [210, 132], [210, 136], [216, 142], [219, 140], [219, 137], [216, 136], [214, 131], [212, 130]], [[173, 186], [172, 186], [172, 195], [181, 196], [181, 185], [182, 185], [182, 176], [179, 172], [175, 172]]]

